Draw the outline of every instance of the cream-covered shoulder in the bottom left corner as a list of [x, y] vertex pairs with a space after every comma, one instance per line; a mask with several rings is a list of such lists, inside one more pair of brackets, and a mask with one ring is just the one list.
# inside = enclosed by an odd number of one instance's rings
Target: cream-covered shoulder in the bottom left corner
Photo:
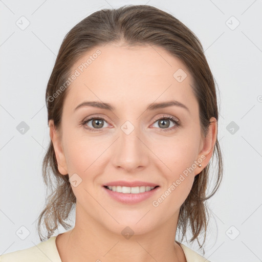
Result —
[[0, 256], [0, 262], [61, 262], [55, 238], [56, 236], [52, 236], [33, 247], [3, 254]]

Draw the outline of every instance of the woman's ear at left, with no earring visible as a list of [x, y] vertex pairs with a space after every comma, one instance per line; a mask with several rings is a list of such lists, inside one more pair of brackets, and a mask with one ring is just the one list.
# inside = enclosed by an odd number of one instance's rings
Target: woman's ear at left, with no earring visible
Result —
[[58, 171], [61, 174], [68, 174], [67, 162], [65, 161], [65, 156], [62, 147], [62, 139], [57, 129], [55, 129], [54, 121], [49, 120], [50, 127], [50, 138], [53, 142], [55, 157], [57, 160]]

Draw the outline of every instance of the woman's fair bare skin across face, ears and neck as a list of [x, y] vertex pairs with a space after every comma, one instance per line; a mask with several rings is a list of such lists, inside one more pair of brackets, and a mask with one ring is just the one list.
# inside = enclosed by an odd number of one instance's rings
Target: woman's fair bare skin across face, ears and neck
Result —
[[[160, 47], [96, 47], [83, 55], [72, 72], [99, 49], [101, 55], [69, 86], [65, 97], [61, 130], [50, 120], [58, 169], [61, 174], [77, 175], [82, 182], [72, 186], [76, 196], [75, 227], [56, 238], [62, 261], [186, 261], [182, 248], [174, 242], [180, 206], [189, 194], [194, 176], [208, 164], [216, 141], [217, 123], [210, 124], [207, 137], [201, 136], [199, 107], [190, 84], [193, 79], [178, 59]], [[178, 82], [173, 74], [183, 69], [187, 77]], [[152, 102], [171, 99], [186, 105], [146, 110]], [[111, 112], [83, 101], [112, 104]], [[103, 117], [97, 132], [80, 123], [88, 117]], [[173, 116], [161, 128], [163, 117]], [[154, 120], [159, 118], [158, 120]], [[135, 127], [126, 135], [121, 126], [129, 121]], [[104, 125], [103, 125], [104, 123]], [[205, 156], [185, 180], [159, 204], [152, 205], [195, 160]], [[158, 192], [138, 204], [122, 204], [102, 190], [106, 182], [146, 181], [160, 186]], [[134, 235], [126, 239], [121, 231], [129, 226]]]

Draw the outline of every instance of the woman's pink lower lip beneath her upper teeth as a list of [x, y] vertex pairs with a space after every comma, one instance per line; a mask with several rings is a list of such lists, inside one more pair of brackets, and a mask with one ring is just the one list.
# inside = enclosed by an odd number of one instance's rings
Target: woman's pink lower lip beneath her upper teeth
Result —
[[158, 191], [159, 186], [150, 190], [150, 191], [145, 191], [143, 193], [138, 193], [138, 194], [131, 194], [131, 193], [119, 193], [112, 191], [110, 189], [107, 189], [103, 187], [103, 189], [107, 192], [107, 194], [110, 195], [113, 199], [120, 203], [124, 204], [137, 204], [140, 203], [148, 198], [150, 198], [156, 191]]

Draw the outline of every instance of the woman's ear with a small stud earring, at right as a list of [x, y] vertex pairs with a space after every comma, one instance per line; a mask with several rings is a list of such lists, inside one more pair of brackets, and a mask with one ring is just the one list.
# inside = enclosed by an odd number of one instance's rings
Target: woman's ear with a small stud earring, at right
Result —
[[[213, 155], [213, 151], [214, 151], [214, 146], [215, 146], [215, 142], [216, 142], [216, 136], [217, 136], [217, 121], [214, 117], [211, 117], [209, 120], [211, 123], [208, 127], [208, 133], [207, 136], [204, 138], [202, 144], [203, 147], [201, 149], [201, 151], [199, 152], [198, 155], [198, 159], [203, 159], [203, 161], [201, 162], [202, 167], [197, 167], [195, 168], [194, 172], [195, 172], [195, 176], [197, 176], [197, 174], [199, 174], [204, 167], [206, 167]], [[205, 156], [205, 158], [204, 158]]]

